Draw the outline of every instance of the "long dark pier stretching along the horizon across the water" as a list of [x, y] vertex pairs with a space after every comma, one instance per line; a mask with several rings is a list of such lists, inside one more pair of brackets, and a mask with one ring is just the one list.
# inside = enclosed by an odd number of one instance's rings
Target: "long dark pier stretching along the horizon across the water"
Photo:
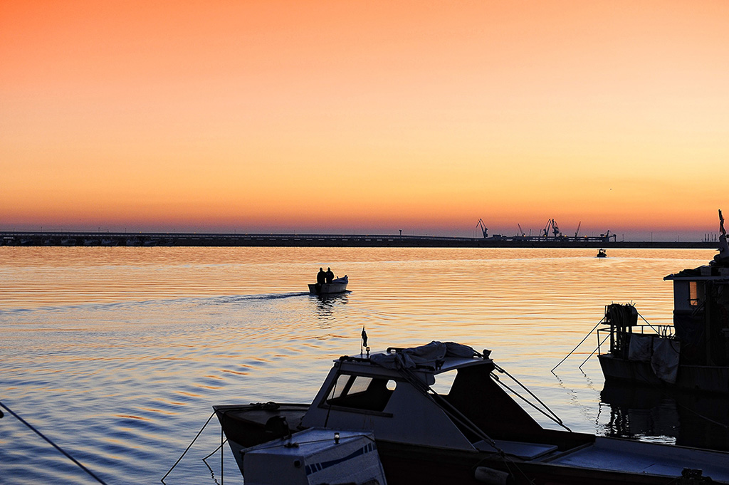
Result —
[[615, 236], [448, 236], [101, 233], [0, 231], [0, 246], [211, 246], [211, 247], [554, 247], [717, 249], [717, 241], [615, 241]]

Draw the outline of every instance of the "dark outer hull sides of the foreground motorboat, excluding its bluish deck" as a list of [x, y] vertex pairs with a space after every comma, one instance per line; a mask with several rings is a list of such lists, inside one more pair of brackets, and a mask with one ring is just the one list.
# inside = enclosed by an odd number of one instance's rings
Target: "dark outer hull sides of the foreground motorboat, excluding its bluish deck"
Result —
[[[241, 451], [276, 438], [281, 438], [281, 430], [270, 430], [270, 420], [277, 416], [286, 418], [286, 430], [294, 433], [303, 429], [300, 421], [308, 405], [273, 403], [248, 406], [214, 406], [217, 417], [233, 451], [238, 466], [243, 470]], [[479, 484], [475, 478], [477, 467], [500, 470], [510, 474], [510, 483], [532, 485], [665, 485], [701, 484], [701, 481], [682, 481], [680, 477], [650, 475], [636, 471], [609, 470], [599, 467], [575, 467], [569, 465], [569, 457], [590, 453], [594, 437], [580, 433], [556, 432], [564, 435], [560, 449], [571, 449], [555, 462], [523, 461], [516, 457], [502, 457], [487, 451], [461, 451], [440, 449], [430, 446], [417, 446], [377, 440], [378, 454], [389, 485], [443, 485]], [[585, 439], [589, 438], [589, 439]], [[636, 443], [610, 438], [599, 438], [612, 443], [612, 446], [655, 446], [649, 443]], [[574, 441], [570, 445], [569, 441]], [[577, 446], [582, 443], [582, 446]], [[574, 447], [573, 447], [574, 446]], [[660, 445], [658, 445], [660, 446]], [[673, 447], [669, 447], [673, 448]], [[689, 452], [693, 450], [687, 449]], [[687, 459], [687, 465], [693, 465]], [[715, 483], [727, 483], [717, 481]]]

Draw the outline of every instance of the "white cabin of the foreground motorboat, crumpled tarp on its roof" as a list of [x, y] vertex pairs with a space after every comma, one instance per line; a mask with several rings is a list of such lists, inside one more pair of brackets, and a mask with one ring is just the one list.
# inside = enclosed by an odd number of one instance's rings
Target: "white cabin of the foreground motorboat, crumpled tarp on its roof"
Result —
[[[432, 342], [340, 357], [301, 424], [371, 430], [378, 441], [457, 450], [494, 451], [498, 443], [523, 459], [557, 449], [553, 443], [562, 432], [542, 428], [504, 392], [488, 353]], [[570, 446], [580, 437], [564, 434]]]

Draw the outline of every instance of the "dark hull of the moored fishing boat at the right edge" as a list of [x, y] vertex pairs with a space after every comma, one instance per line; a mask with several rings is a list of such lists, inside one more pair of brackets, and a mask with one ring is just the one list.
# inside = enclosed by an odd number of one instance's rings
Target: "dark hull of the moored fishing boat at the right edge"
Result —
[[605, 379], [729, 394], [729, 367], [679, 365], [676, 383], [668, 384], [658, 379], [650, 362], [623, 359], [612, 354], [600, 354], [598, 360]]

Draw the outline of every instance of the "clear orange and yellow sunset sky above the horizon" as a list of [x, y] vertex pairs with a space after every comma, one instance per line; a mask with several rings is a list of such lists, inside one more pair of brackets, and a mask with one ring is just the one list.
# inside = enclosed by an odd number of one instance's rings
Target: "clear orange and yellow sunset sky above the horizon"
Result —
[[0, 66], [0, 230], [729, 214], [725, 0], [0, 0]]

